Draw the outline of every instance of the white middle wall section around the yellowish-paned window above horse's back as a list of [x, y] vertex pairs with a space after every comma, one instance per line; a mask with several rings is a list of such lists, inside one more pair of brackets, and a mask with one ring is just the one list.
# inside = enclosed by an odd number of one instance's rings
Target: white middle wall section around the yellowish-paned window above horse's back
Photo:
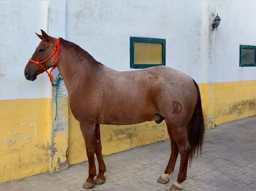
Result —
[[[166, 65], [202, 79], [204, 2], [67, 2], [66, 37], [108, 67], [130, 69], [130, 36], [166, 39]], [[195, 24], [196, 23], [196, 24]]]

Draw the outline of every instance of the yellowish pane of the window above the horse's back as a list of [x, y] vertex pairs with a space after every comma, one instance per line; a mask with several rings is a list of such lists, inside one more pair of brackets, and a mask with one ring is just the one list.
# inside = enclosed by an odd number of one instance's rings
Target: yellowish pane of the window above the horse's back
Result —
[[134, 64], [162, 64], [162, 43], [134, 42]]

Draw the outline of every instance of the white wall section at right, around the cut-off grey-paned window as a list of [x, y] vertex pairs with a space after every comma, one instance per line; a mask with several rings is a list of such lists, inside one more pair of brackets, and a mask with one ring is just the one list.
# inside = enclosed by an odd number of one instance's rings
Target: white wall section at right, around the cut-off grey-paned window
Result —
[[218, 1], [215, 13], [221, 17], [214, 32], [214, 82], [256, 79], [256, 67], [239, 67], [239, 45], [256, 45], [256, 1]]

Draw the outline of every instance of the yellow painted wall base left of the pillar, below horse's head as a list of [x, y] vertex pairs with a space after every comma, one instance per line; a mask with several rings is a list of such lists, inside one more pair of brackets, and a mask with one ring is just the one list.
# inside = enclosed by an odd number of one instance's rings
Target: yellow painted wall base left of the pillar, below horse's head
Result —
[[0, 100], [0, 183], [46, 172], [51, 99]]

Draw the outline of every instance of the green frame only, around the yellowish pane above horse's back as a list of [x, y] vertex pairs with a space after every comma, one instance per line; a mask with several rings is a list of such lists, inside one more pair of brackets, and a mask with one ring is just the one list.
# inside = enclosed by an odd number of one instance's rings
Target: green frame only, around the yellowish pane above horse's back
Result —
[[[134, 42], [148, 42], [148, 43], [161, 43], [162, 44], [162, 63], [158, 64], [134, 64]], [[130, 37], [130, 68], [148, 68], [153, 66], [165, 66], [165, 51], [166, 51], [166, 39], [147, 38], [147, 37]]]

